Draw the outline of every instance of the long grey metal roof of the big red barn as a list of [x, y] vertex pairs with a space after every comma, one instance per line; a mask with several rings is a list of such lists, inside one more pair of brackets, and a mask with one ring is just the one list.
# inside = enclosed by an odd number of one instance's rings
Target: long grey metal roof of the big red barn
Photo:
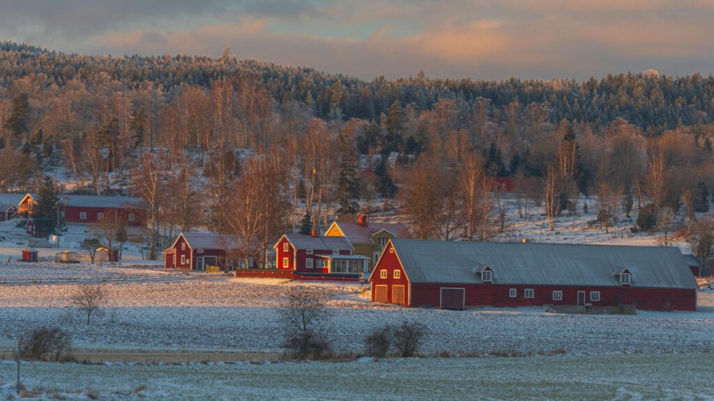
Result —
[[491, 266], [494, 284], [619, 286], [615, 270], [632, 273], [633, 287], [698, 288], [678, 248], [552, 243], [392, 240], [411, 283], [480, 284]]

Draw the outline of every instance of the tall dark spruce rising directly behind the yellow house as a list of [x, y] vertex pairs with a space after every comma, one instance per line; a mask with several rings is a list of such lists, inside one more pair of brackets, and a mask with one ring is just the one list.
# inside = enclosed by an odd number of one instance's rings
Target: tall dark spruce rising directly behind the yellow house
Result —
[[339, 146], [342, 158], [337, 183], [337, 198], [340, 203], [337, 215], [355, 215], [359, 211], [358, 200], [361, 183], [358, 176], [357, 153], [352, 136], [348, 133], [343, 133], [339, 137]]

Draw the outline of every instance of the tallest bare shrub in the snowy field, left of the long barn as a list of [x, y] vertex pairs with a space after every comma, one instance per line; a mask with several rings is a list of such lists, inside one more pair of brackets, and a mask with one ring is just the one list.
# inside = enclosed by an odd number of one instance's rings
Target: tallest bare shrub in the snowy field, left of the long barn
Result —
[[331, 354], [330, 343], [322, 328], [327, 311], [323, 295], [304, 288], [288, 295], [288, 305], [281, 310], [285, 332], [283, 347], [293, 359], [323, 359]]

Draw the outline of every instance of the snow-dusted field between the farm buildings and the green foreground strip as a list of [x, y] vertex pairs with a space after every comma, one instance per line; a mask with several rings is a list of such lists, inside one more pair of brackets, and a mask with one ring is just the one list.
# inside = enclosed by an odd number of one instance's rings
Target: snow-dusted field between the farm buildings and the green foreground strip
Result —
[[[79, 271], [35, 265], [44, 282], [25, 281], [31, 264], [0, 265], [0, 350], [37, 325], [60, 325], [76, 347], [103, 350], [276, 351], [278, 310], [300, 286], [329, 297], [328, 331], [339, 350], [361, 350], [369, 330], [416, 320], [430, 330], [425, 352], [549, 351], [700, 352], [714, 350], [714, 293], [700, 291], [695, 313], [640, 312], [636, 316], [561, 315], [543, 308], [466, 311], [401, 308], [368, 302], [359, 285], [295, 283], [281, 279], [166, 275], [162, 270], [79, 265]], [[16, 270], [12, 270], [16, 269]], [[51, 280], [51, 270], [63, 280]], [[69, 299], [76, 278], [106, 280], [109, 298], [90, 324]]]

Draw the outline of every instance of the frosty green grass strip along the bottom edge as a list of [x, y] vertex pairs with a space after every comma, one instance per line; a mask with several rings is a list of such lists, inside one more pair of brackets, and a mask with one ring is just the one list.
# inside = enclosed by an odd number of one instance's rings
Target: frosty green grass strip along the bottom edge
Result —
[[[630, 354], [193, 365], [26, 363], [45, 395], [171, 400], [710, 400], [713, 355]], [[0, 363], [2, 383], [14, 365]]]

